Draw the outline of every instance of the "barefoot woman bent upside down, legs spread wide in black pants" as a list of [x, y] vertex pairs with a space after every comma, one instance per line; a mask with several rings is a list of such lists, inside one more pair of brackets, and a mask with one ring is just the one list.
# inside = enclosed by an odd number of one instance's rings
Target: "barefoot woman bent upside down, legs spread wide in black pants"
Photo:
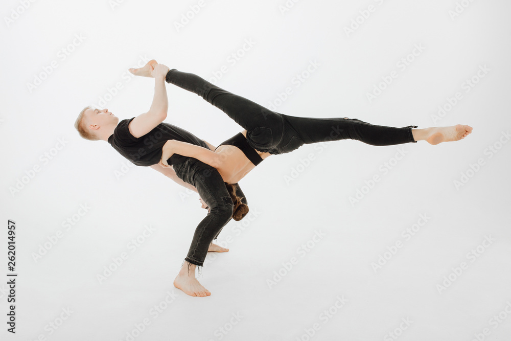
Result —
[[[223, 142], [215, 151], [186, 142], [169, 140], [162, 147], [162, 167], [173, 154], [194, 157], [215, 167], [227, 184], [236, 184], [260, 162], [272, 154], [296, 150], [304, 144], [358, 140], [374, 146], [389, 146], [427, 141], [432, 145], [458, 141], [472, 132], [468, 125], [412, 129], [373, 125], [350, 118], [302, 118], [287, 116], [247, 100], [202, 79], [172, 69], [166, 81], [187, 89], [224, 111], [243, 130]], [[179, 176], [179, 165], [174, 166]], [[204, 206], [204, 204], [203, 204]]]

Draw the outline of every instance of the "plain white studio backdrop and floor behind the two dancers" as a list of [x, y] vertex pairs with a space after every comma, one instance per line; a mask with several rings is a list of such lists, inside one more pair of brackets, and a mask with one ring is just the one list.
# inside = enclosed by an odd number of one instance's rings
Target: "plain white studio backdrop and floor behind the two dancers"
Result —
[[[6, 322], [17, 277], [16, 333], [4, 322], [1, 339], [508, 339], [510, 10], [4, 1]], [[474, 130], [437, 146], [341, 141], [270, 157], [240, 181], [251, 213], [220, 234], [230, 251], [210, 253], [198, 277], [212, 295], [189, 297], [172, 281], [205, 215], [198, 195], [73, 127], [89, 104], [121, 120], [147, 111], [154, 81], [127, 69], [152, 58], [287, 115]], [[242, 130], [195, 94], [167, 93], [166, 122], [215, 145]]]

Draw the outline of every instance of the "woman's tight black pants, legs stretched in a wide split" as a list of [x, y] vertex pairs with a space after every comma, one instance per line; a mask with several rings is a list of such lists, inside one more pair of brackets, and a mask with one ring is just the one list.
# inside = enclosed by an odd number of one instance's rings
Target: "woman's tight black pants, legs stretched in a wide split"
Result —
[[228, 91], [191, 74], [172, 69], [167, 83], [189, 90], [221, 109], [247, 130], [248, 144], [261, 152], [283, 154], [304, 144], [358, 140], [374, 146], [390, 146], [413, 140], [412, 128], [373, 125], [348, 118], [306, 118], [284, 115]]

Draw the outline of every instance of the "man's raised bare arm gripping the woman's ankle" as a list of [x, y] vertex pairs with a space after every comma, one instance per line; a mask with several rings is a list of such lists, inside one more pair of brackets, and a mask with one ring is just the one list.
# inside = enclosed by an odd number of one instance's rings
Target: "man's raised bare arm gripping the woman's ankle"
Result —
[[[152, 66], [150, 66], [152, 68]], [[154, 97], [149, 111], [135, 117], [129, 124], [129, 132], [135, 137], [140, 138], [153, 130], [158, 124], [167, 118], [169, 109], [169, 100], [167, 98], [167, 88], [165, 86], [165, 76], [169, 67], [163, 64], [157, 64], [152, 70], [154, 75]]]

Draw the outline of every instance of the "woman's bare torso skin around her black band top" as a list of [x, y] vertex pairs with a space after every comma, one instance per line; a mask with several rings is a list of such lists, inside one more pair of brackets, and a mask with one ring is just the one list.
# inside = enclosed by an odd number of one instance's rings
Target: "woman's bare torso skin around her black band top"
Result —
[[[243, 130], [242, 133], [246, 138], [247, 131]], [[259, 154], [259, 156], [261, 156], [261, 158], [263, 158], [263, 160], [271, 155], [270, 153], [263, 153], [258, 150], [255, 151]], [[254, 164], [248, 160], [248, 157], [246, 157], [243, 151], [241, 151], [238, 147], [221, 145], [217, 147], [215, 153], [224, 155], [220, 166], [216, 167], [216, 169], [227, 184], [236, 184], [239, 180], [245, 177], [248, 172], [255, 168]]]

